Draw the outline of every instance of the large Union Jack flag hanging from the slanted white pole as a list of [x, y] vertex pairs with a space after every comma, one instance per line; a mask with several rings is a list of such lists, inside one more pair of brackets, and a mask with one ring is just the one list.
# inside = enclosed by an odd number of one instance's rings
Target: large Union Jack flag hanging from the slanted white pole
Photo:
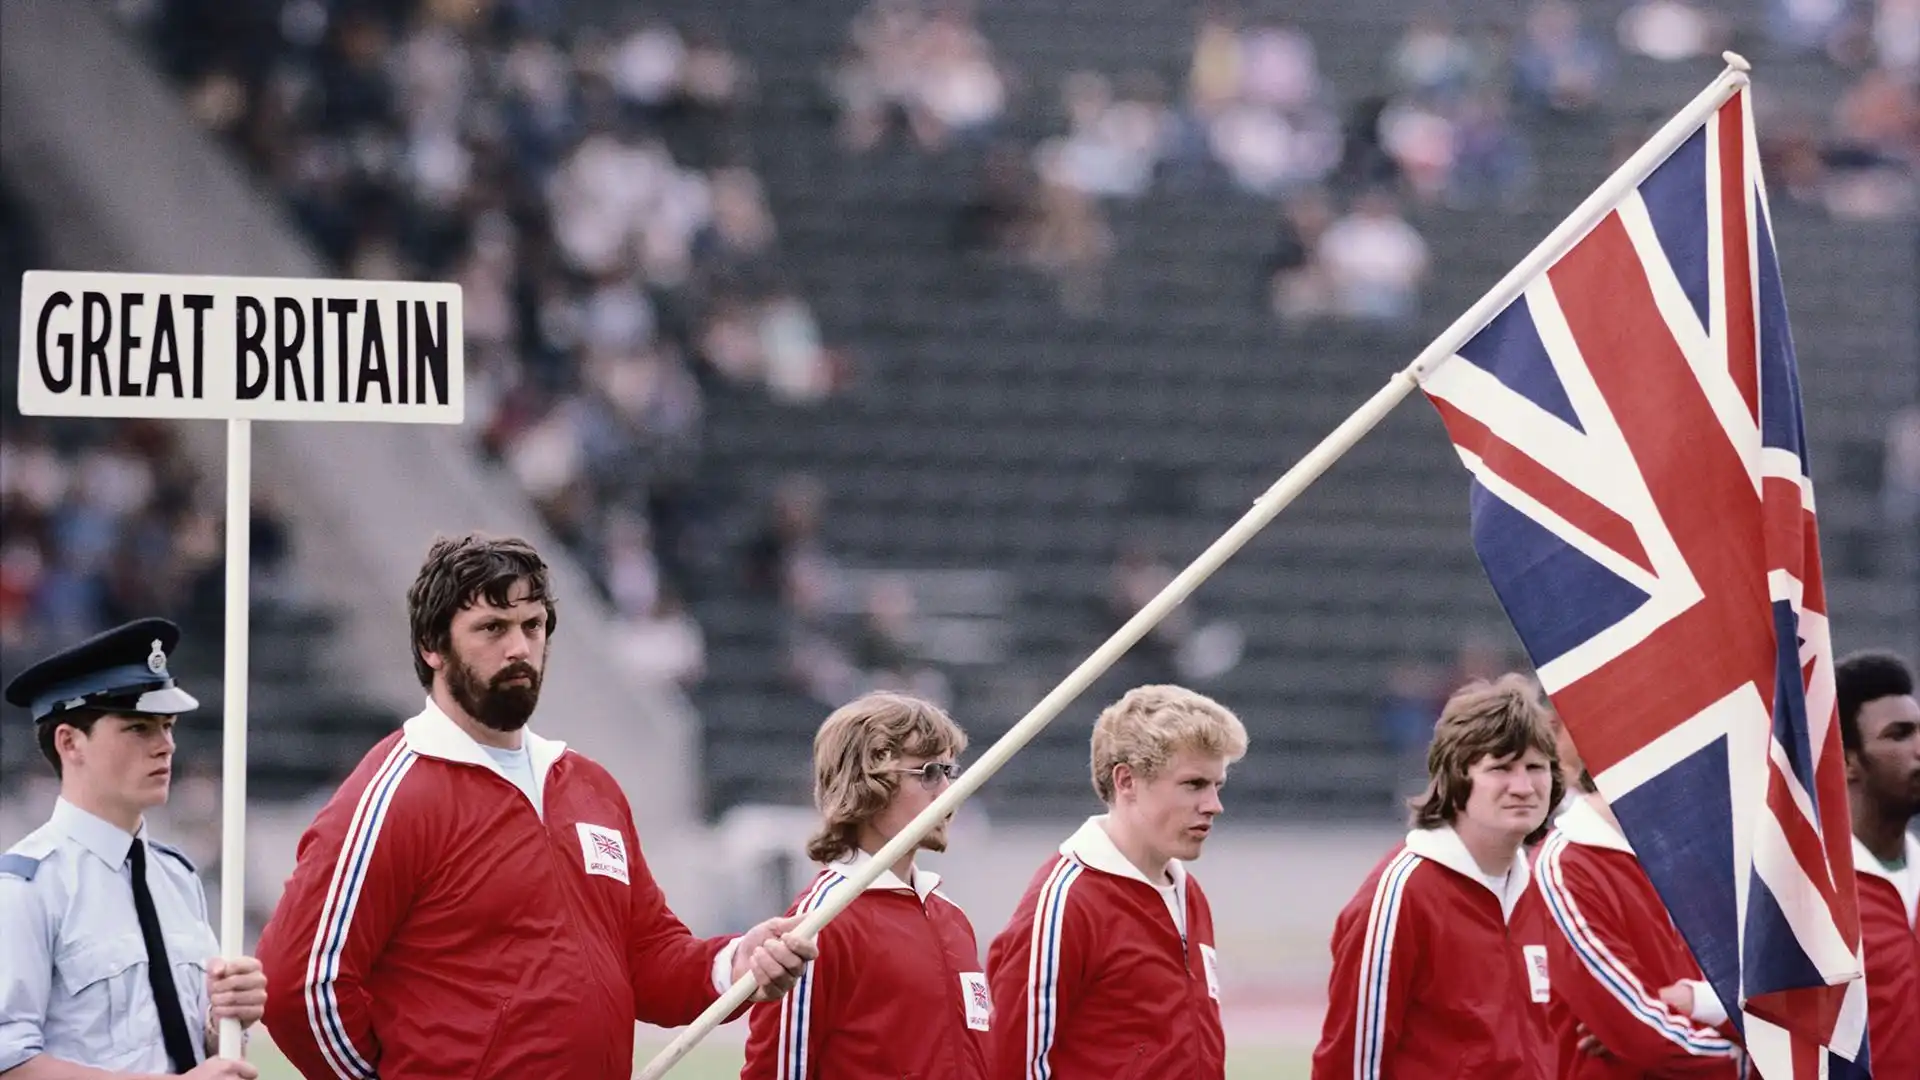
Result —
[[1866, 1074], [1799, 373], [1747, 90], [1421, 386], [1473, 544], [1768, 1080]]

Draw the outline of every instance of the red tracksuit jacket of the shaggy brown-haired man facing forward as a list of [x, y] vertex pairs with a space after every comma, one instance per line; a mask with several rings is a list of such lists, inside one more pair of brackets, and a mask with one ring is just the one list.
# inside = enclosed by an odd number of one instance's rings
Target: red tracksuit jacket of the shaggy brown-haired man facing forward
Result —
[[1313, 1080], [1549, 1080], [1546, 917], [1448, 828], [1413, 830], [1334, 920]]

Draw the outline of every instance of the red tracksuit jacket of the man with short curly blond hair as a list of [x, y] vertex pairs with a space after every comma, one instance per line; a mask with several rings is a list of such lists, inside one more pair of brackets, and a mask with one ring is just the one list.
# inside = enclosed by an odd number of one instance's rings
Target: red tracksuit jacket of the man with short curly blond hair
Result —
[[1213, 913], [1169, 867], [1165, 896], [1087, 821], [1033, 874], [987, 949], [995, 1080], [1221, 1080]]

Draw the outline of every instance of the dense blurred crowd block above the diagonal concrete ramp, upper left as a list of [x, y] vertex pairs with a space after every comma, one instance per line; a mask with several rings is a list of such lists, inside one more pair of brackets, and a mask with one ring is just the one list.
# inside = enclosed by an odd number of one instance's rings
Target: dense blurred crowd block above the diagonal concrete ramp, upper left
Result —
[[851, 371], [780, 265], [753, 71], [707, 25], [563, 8], [123, 4], [346, 275], [463, 286], [482, 452], [597, 571], [636, 665], [685, 682], [707, 398], [806, 405]]

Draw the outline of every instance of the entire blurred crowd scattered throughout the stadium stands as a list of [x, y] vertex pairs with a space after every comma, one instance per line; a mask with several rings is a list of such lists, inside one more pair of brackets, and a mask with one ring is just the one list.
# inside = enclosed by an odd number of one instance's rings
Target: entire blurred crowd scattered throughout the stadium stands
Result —
[[[463, 284], [482, 452], [595, 571], [632, 663], [697, 680], [685, 592], [716, 550], [697, 482], [708, 402], [743, 390], [804, 407], [856, 375], [783, 269], [747, 142], [760, 94], [747, 61], [712, 25], [641, 8], [578, 29], [563, 0], [117, 6], [342, 273]], [[851, 156], [893, 142], [970, 154], [983, 179], [956, 244], [1050, 277], [1069, 311], [1100, 309], [1114, 206], [1235, 190], [1275, 206], [1260, 294], [1277, 319], [1398, 325], [1434, 275], [1423, 215], [1528, 206], [1530, 133], [1607, 123], [1622, 61], [1741, 44], [1705, 0], [1642, 0], [1611, 27], [1572, 0], [1530, 0], [1500, 27], [1432, 12], [1409, 17], [1377, 71], [1329, 73], [1304, 27], [1206, 2], [1177, 77], [1083, 69], [1035, 88], [966, 6], [874, 0], [824, 73], [831, 138]], [[1774, 198], [1912, 215], [1920, 0], [1768, 0], [1764, 33], [1845, 81], [1828, 115], [1766, 119]], [[1058, 108], [1021, 140], [1029, 94]], [[1920, 513], [1916, 423], [1907, 409], [1887, 429], [1889, 523]], [[73, 444], [8, 425], [0, 644], [194, 603], [219, 523], [179, 459], [140, 425]], [[937, 696], [899, 588], [874, 588], [862, 630], [822, 628], [818, 513], [804, 482], [783, 492], [747, 567], [787, 611], [789, 676], [826, 701], [856, 682]], [[255, 561], [273, 567], [286, 536], [265, 521]], [[1116, 603], [1154, 573], [1150, 555], [1125, 555]], [[1231, 667], [1238, 644], [1198, 630], [1185, 634], [1208, 648], [1150, 648]], [[1400, 698], [1425, 709], [1432, 688]]]

